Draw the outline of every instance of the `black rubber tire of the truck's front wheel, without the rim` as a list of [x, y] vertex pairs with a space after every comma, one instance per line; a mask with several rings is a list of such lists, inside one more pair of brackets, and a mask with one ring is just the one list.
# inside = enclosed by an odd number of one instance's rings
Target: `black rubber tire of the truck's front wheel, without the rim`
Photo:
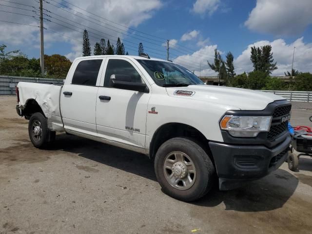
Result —
[[[186, 154], [195, 166], [195, 182], [186, 190], [175, 188], [165, 176], [164, 162], [172, 152]], [[156, 153], [154, 167], [163, 192], [178, 200], [195, 201], [206, 195], [213, 186], [215, 167], [207, 153], [191, 139], [176, 137], [164, 142]]]

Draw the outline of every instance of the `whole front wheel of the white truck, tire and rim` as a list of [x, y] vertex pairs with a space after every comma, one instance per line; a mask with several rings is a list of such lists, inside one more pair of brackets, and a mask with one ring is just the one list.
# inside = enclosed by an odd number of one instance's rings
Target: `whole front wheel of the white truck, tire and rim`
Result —
[[176, 137], [159, 147], [155, 173], [164, 193], [178, 200], [194, 201], [211, 189], [215, 167], [197, 143]]

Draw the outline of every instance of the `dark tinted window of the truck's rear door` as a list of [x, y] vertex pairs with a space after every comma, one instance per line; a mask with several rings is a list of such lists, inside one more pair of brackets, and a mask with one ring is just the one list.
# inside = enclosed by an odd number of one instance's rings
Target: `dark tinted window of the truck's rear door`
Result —
[[78, 63], [72, 84], [95, 86], [102, 59], [84, 60]]

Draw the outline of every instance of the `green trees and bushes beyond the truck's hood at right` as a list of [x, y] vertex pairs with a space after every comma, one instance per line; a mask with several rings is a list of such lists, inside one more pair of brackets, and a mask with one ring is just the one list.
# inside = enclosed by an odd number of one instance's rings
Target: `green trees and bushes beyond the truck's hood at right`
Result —
[[252, 47], [250, 60], [253, 63], [254, 71], [239, 75], [234, 72], [234, 56], [231, 52], [228, 52], [226, 59], [223, 60], [220, 53], [215, 49], [214, 63], [207, 62], [209, 67], [218, 73], [226, 86], [254, 90], [312, 90], [312, 74], [310, 73], [300, 73], [295, 69], [292, 69], [291, 72], [286, 71], [285, 76], [290, 77], [289, 83], [280, 78], [270, 77], [272, 72], [277, 69], [271, 45]]

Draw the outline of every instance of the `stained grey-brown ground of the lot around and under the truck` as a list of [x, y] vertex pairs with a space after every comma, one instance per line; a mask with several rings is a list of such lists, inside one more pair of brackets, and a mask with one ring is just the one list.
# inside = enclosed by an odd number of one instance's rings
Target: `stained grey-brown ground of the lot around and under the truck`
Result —
[[[65, 134], [34, 148], [15, 105], [0, 96], [0, 234], [311, 233], [312, 158], [185, 203], [161, 192], [146, 156]], [[311, 105], [292, 124], [311, 126]]]

